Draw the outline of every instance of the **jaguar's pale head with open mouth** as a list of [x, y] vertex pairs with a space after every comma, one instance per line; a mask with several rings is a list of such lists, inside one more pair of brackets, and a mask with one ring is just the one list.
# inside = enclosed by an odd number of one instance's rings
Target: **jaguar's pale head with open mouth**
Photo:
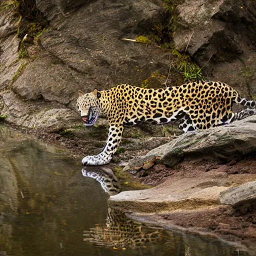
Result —
[[78, 90], [78, 96], [76, 108], [81, 113], [84, 125], [93, 125], [99, 113], [98, 98], [100, 97], [100, 92], [96, 89], [90, 93], [84, 93]]

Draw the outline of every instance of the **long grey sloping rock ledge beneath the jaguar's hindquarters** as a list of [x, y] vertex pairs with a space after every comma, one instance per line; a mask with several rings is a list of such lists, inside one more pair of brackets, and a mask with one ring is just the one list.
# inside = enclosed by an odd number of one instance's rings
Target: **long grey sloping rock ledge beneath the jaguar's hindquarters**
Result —
[[131, 159], [123, 168], [132, 173], [155, 163], [173, 167], [186, 158], [210, 158], [228, 162], [256, 152], [256, 116], [206, 131], [184, 133], [172, 141]]

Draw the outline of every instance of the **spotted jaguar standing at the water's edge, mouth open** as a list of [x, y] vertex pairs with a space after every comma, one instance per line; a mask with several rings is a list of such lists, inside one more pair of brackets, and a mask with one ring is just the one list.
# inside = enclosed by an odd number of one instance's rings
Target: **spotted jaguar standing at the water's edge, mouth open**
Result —
[[[233, 103], [245, 108], [233, 112]], [[254, 100], [241, 98], [235, 89], [216, 81], [189, 82], [160, 89], [119, 84], [89, 93], [79, 90], [76, 106], [85, 126], [93, 125], [100, 112], [106, 115], [109, 123], [102, 151], [85, 156], [83, 165], [110, 162], [121, 141], [124, 125], [179, 121], [179, 128], [187, 132], [206, 130], [256, 113]]]

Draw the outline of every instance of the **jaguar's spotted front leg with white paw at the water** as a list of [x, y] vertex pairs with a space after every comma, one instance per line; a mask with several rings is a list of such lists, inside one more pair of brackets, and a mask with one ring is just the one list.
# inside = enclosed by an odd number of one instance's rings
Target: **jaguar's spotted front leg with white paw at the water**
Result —
[[121, 141], [122, 124], [110, 124], [106, 144], [97, 155], [87, 155], [82, 158], [83, 165], [102, 165], [111, 161], [112, 155], [117, 150]]

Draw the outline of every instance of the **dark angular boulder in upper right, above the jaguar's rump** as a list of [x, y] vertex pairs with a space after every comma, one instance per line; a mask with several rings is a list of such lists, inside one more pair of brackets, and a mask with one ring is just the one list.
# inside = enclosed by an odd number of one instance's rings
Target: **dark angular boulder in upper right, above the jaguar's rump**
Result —
[[[208, 79], [226, 82], [246, 96], [255, 94], [256, 2], [180, 2], [174, 14], [175, 47], [184, 52], [191, 36], [186, 52], [203, 66]], [[251, 92], [246, 91], [245, 84]]]

